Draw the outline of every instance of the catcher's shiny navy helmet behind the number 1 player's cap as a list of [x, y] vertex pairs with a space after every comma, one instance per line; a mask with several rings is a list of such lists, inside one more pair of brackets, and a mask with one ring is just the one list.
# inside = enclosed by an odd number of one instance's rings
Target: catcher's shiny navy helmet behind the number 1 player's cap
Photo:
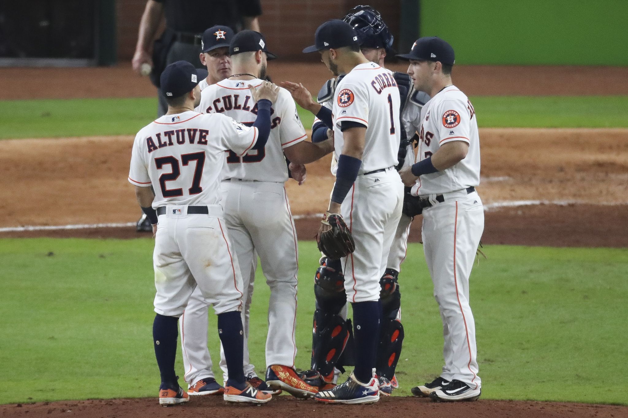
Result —
[[349, 23], [360, 38], [364, 48], [384, 48], [393, 50], [394, 36], [388, 31], [381, 14], [371, 6], [355, 6], [343, 19]]

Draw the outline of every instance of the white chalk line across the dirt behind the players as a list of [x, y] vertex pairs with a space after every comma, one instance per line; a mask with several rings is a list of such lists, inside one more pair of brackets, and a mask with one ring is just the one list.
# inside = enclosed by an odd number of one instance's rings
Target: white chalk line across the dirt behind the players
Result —
[[[593, 204], [592, 202], [585, 201], [504, 201], [493, 202], [484, 205], [485, 211], [491, 211], [493, 209], [499, 209], [501, 207], [519, 207], [519, 206], [538, 206], [538, 205], [558, 205], [569, 206], [573, 204]], [[599, 206], [622, 206], [628, 205], [628, 202], [598, 202], [595, 205]], [[314, 219], [322, 217], [322, 213], [295, 215], [293, 219], [298, 221], [299, 219]], [[19, 233], [26, 231], [63, 231], [68, 229], [94, 229], [94, 228], [122, 228], [135, 226], [136, 222], [123, 222], [118, 224], [74, 224], [74, 225], [27, 225], [27, 226], [11, 226], [0, 227], [0, 233]]]

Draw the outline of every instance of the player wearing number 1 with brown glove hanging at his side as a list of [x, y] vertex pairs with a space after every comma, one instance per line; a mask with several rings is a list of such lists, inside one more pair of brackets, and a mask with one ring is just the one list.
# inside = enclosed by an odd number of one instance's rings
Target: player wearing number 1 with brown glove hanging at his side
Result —
[[[357, 32], [344, 21], [332, 19], [318, 27], [315, 45], [303, 50], [315, 51], [334, 75], [346, 74], [335, 88], [331, 111], [316, 103], [308, 108], [333, 128], [337, 160], [336, 182], [318, 234], [319, 248], [332, 256], [325, 249], [337, 243], [327, 237], [330, 231], [342, 236], [344, 219], [355, 241], [348, 251], [340, 251], [349, 255], [338, 268], [345, 271], [346, 300], [353, 308], [355, 368], [344, 384], [320, 391], [315, 399], [372, 403], [379, 400], [379, 384], [372, 372], [381, 320], [379, 279], [403, 204], [403, 184], [394, 169], [401, 135], [399, 88], [391, 71], [365, 58]], [[295, 93], [298, 86], [291, 85]]]

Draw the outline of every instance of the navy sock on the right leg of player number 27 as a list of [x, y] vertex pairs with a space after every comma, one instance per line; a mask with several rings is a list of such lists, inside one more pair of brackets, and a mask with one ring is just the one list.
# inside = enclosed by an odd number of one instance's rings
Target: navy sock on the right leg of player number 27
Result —
[[246, 378], [242, 367], [244, 331], [242, 331], [242, 317], [239, 311], [218, 315], [218, 335], [225, 352], [229, 385], [242, 390], [246, 387]]

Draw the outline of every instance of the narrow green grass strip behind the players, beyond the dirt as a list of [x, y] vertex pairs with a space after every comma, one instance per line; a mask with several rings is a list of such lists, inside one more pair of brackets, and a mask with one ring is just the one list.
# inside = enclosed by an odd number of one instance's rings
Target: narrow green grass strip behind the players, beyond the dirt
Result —
[[[480, 127], [625, 128], [628, 96], [472, 97]], [[311, 113], [299, 109], [303, 125]], [[0, 139], [134, 135], [156, 117], [156, 98], [0, 101]]]

